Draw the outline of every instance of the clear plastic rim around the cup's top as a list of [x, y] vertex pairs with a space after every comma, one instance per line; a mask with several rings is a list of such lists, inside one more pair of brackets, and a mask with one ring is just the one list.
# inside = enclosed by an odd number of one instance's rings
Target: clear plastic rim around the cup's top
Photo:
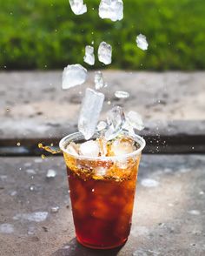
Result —
[[[124, 133], [125, 135], [129, 135], [129, 133], [125, 132]], [[99, 132], [96, 131], [96, 133], [94, 134], [95, 135], [100, 135]], [[94, 137], [93, 136], [93, 137]], [[92, 137], [92, 138], [93, 138]], [[66, 150], [66, 146], [69, 144], [69, 142], [71, 141], [75, 141], [75, 138], [76, 140], [78, 139], [83, 139], [83, 134], [80, 132], [80, 131], [77, 131], [77, 132], [74, 132], [74, 133], [71, 133], [67, 136], [65, 136], [64, 138], [62, 138], [59, 142], [59, 147], [60, 149], [64, 152], [64, 153], [67, 153], [69, 154], [71, 157], [73, 158], [77, 158], [77, 159], [84, 159], [84, 160], [102, 160], [102, 161], [105, 161], [105, 160], [117, 160], [119, 158], [132, 158], [138, 154], [140, 154], [142, 152], [142, 150], [144, 149], [145, 145], [146, 145], [146, 142], [144, 140], [144, 138], [142, 138], [141, 136], [139, 135], [135, 135], [135, 136], [130, 136], [129, 137], [133, 138], [139, 145], [140, 145], [140, 148], [138, 148], [136, 151], [134, 152], [131, 152], [129, 154], [124, 154], [124, 155], [121, 155], [121, 156], [112, 156], [112, 157], [95, 157], [95, 158], [92, 158], [92, 157], [86, 157], [86, 156], [81, 156], [81, 155], [74, 155], [74, 154], [71, 154], [70, 152], [68, 152]], [[90, 138], [91, 139], [91, 138]], [[66, 143], [67, 142], [67, 143]]]

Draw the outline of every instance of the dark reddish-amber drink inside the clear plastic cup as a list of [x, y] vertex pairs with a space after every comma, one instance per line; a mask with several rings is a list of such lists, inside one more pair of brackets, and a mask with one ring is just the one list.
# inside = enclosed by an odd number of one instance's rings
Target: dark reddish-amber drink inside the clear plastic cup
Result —
[[[69, 158], [64, 157], [68, 163]], [[128, 239], [138, 163], [139, 159], [128, 170], [114, 166], [110, 173], [117, 173], [118, 179], [88, 175], [88, 170], [73, 172], [67, 166], [76, 238], [83, 246], [109, 249]]]

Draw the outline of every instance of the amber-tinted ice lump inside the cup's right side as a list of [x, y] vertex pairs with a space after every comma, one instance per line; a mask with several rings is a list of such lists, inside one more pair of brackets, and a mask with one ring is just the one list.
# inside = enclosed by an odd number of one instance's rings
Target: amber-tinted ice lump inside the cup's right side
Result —
[[118, 138], [111, 145], [111, 151], [115, 156], [123, 156], [131, 152], [135, 152], [136, 146], [133, 140], [129, 138]]

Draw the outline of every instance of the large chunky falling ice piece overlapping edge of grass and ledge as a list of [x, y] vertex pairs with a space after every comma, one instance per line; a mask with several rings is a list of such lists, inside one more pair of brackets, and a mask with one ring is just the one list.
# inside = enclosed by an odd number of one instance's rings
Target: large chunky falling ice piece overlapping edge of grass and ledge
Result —
[[87, 70], [81, 64], [68, 65], [63, 71], [63, 90], [83, 84], [86, 78]]

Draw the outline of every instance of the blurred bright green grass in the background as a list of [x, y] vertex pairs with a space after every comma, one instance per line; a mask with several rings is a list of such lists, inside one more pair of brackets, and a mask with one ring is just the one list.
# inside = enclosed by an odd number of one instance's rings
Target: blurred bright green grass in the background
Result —
[[[204, 0], [124, 0], [124, 18], [116, 23], [98, 17], [100, 0], [84, 1], [83, 16], [72, 13], [69, 0], [0, 2], [1, 70], [83, 64], [84, 46], [94, 41], [97, 52], [102, 40], [113, 46], [111, 68], [205, 69]], [[136, 47], [139, 33], [148, 38], [149, 51]]]

